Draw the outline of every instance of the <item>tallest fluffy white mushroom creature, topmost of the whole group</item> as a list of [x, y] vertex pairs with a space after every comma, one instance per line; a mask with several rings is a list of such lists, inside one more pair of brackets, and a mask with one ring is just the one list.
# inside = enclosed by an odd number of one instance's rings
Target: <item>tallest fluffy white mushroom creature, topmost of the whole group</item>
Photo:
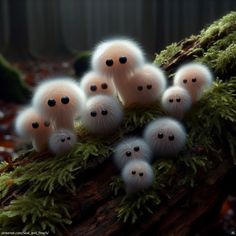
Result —
[[92, 56], [93, 70], [112, 78], [122, 103], [129, 99], [128, 77], [144, 64], [141, 48], [129, 39], [113, 39], [100, 43]]

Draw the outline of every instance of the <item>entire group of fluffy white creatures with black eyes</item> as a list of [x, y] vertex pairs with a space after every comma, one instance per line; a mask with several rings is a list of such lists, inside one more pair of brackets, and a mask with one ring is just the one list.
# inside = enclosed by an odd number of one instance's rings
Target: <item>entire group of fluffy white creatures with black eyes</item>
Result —
[[184, 147], [186, 131], [178, 120], [211, 83], [206, 66], [189, 63], [177, 70], [173, 85], [167, 88], [163, 71], [146, 62], [135, 42], [107, 40], [95, 48], [91, 71], [80, 84], [69, 78], [42, 82], [31, 106], [19, 112], [15, 129], [19, 136], [31, 139], [36, 151], [48, 147], [61, 155], [77, 142], [75, 119], [95, 135], [108, 135], [121, 124], [123, 107], [148, 106], [160, 100], [174, 118], [154, 120], [145, 127], [143, 138], [128, 138], [115, 148], [115, 164], [127, 193], [133, 193], [152, 184], [153, 157], [175, 156]]

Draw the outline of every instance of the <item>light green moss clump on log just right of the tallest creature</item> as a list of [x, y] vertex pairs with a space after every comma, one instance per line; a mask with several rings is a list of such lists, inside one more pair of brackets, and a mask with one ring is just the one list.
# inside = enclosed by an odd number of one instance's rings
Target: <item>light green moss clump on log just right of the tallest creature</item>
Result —
[[161, 51], [159, 54], [156, 54], [154, 63], [157, 65], [166, 64], [180, 50], [181, 50], [181, 45], [178, 45], [177, 43], [172, 43], [169, 46], [167, 46], [165, 50]]

